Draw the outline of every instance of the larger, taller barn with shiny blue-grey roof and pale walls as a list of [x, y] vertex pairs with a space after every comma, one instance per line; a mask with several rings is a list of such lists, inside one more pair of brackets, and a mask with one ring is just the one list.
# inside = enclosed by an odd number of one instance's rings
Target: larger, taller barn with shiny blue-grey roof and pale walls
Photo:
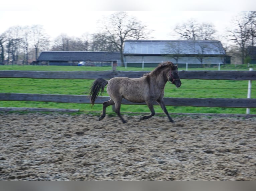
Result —
[[188, 40], [127, 40], [124, 45], [124, 62], [127, 66], [145, 67], [171, 61], [194, 66], [228, 64], [230, 56], [220, 41], [188, 41]]

